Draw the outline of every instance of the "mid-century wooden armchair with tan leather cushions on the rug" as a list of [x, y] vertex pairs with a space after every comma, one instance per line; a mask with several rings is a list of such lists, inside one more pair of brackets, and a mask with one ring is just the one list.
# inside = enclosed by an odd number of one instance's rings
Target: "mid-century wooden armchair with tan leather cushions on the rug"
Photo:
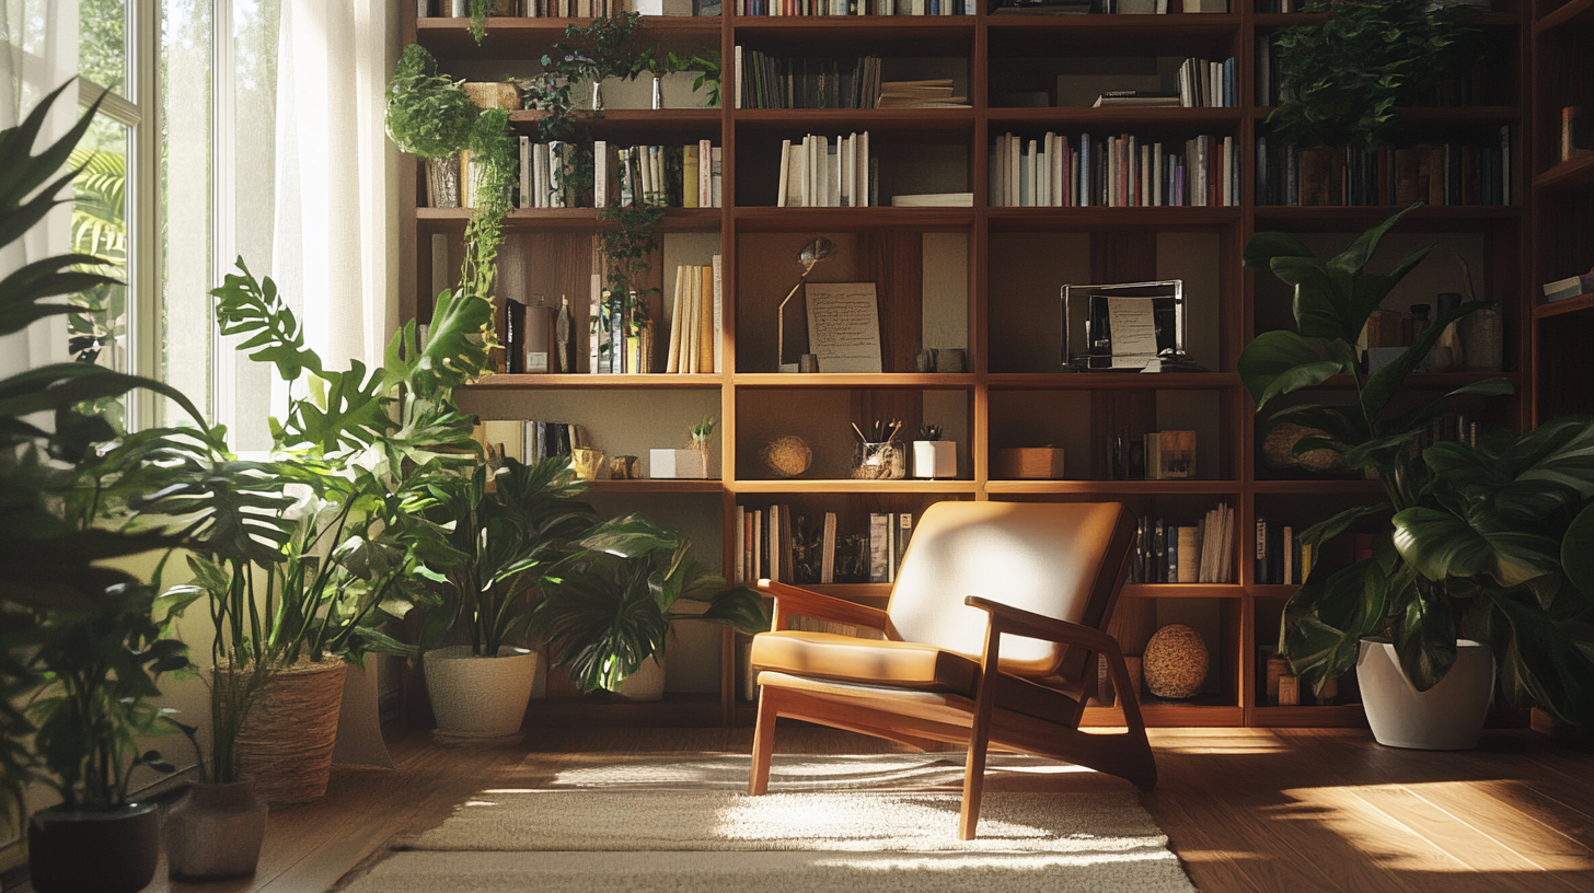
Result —
[[[958, 834], [974, 837], [985, 753], [1020, 751], [1157, 783], [1140, 703], [1106, 635], [1135, 520], [1116, 502], [937, 502], [918, 521], [885, 611], [762, 580], [775, 625], [752, 639], [759, 726], [749, 794], [768, 789], [775, 721], [791, 716], [909, 746], [966, 743]], [[789, 630], [794, 616], [885, 641]], [[1129, 726], [1079, 730], [1108, 659]]]

